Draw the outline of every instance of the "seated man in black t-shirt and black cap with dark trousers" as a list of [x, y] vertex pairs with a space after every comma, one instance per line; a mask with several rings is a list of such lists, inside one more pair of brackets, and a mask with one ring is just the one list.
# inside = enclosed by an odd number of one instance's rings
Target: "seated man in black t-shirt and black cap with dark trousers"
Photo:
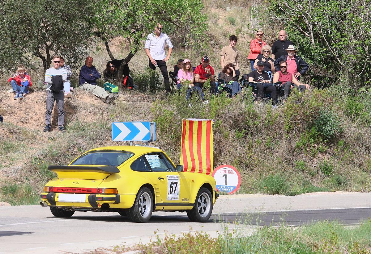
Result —
[[255, 94], [255, 104], [258, 103], [258, 99], [264, 98], [264, 92], [269, 93], [272, 96], [273, 107], [277, 106], [277, 90], [275, 86], [270, 83], [269, 75], [264, 69], [264, 62], [262, 60], [257, 62], [257, 69], [253, 70], [249, 74], [249, 83], [255, 83], [257, 94]]

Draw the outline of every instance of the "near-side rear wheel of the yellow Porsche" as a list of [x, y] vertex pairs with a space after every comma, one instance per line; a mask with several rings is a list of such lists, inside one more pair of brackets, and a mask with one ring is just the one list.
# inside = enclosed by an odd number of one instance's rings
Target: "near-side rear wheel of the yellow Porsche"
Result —
[[144, 223], [150, 220], [153, 210], [153, 197], [149, 188], [138, 191], [134, 205], [127, 210], [127, 216], [134, 222]]

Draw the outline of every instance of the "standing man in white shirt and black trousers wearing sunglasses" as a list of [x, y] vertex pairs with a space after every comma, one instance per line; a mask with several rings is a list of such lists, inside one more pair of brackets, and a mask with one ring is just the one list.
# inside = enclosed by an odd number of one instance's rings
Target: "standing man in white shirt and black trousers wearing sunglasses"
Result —
[[[164, 85], [167, 93], [170, 93], [170, 81], [167, 73], [166, 61], [170, 59], [171, 52], [173, 51], [173, 44], [171, 44], [169, 36], [161, 33], [162, 25], [157, 24], [153, 33], [148, 34], [145, 40], [145, 53], [148, 56], [149, 65], [151, 70], [155, 70], [156, 66], [160, 68], [162, 76], [164, 77]], [[165, 43], [169, 51], [168, 55], [165, 54]]]

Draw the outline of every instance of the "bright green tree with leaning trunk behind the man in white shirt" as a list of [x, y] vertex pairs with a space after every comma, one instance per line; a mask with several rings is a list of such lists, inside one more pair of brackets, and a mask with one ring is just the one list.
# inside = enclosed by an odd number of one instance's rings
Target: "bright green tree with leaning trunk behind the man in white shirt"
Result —
[[121, 62], [121, 73], [158, 22], [165, 28], [174, 27], [173, 32], [183, 39], [184, 45], [200, 46], [207, 29], [203, 7], [201, 0], [99, 0], [90, 28], [104, 42], [111, 60], [115, 56], [109, 40], [116, 36], [127, 39], [131, 51]]

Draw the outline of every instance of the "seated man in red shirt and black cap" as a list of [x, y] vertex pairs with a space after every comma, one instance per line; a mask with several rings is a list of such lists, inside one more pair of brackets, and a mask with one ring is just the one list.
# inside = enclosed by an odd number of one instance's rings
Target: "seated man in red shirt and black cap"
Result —
[[210, 93], [217, 94], [217, 86], [215, 83], [214, 77], [214, 68], [210, 66], [209, 57], [204, 56], [201, 59], [201, 64], [194, 69], [194, 81], [196, 83], [194, 86], [201, 87], [204, 86], [204, 83], [210, 78]]

